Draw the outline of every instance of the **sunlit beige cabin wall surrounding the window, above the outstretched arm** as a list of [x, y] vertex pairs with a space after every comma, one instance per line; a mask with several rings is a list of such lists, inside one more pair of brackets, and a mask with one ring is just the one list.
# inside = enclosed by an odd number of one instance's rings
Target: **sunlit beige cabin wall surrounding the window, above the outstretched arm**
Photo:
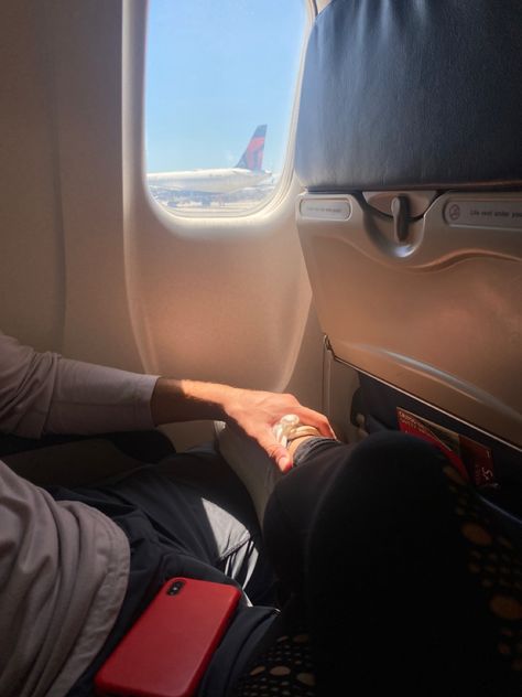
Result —
[[0, 326], [39, 349], [320, 406], [295, 181], [260, 214], [186, 221], [142, 181], [144, 2], [7, 3]]

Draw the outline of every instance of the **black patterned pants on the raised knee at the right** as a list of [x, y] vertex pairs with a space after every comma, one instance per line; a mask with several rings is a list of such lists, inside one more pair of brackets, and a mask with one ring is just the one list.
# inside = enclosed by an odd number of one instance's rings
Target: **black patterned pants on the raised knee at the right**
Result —
[[379, 433], [298, 462], [264, 536], [303, 599], [316, 694], [522, 695], [520, 540], [438, 451]]

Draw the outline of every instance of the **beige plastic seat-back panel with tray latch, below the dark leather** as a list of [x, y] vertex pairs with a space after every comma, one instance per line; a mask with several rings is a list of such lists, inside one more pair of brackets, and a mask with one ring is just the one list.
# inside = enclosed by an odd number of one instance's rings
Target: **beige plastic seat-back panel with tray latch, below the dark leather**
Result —
[[[334, 210], [345, 202], [349, 217], [318, 219], [323, 200]], [[335, 355], [521, 446], [519, 212], [518, 193], [447, 193], [398, 244], [392, 219], [355, 196], [297, 202], [314, 300]]]

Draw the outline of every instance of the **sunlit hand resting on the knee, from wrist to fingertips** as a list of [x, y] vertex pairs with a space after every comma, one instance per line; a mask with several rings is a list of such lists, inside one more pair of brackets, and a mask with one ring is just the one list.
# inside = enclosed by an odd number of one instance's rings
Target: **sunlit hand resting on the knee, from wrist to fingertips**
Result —
[[293, 395], [235, 388], [222, 406], [226, 420], [257, 440], [282, 472], [292, 468], [292, 454], [276, 441], [272, 427], [285, 414], [295, 414], [302, 423], [315, 426], [326, 438], [335, 438], [328, 419], [303, 407]]

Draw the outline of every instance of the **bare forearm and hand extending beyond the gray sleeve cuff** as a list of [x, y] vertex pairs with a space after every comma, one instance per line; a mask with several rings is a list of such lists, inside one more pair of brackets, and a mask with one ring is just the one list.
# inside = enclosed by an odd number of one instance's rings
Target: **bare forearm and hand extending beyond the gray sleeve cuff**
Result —
[[151, 411], [156, 426], [216, 419], [239, 427], [259, 442], [282, 472], [292, 467], [292, 455], [276, 441], [272, 427], [285, 414], [295, 414], [303, 423], [315, 426], [323, 436], [335, 438], [328, 419], [303, 407], [293, 395], [229, 385], [161, 377], [152, 394]]

